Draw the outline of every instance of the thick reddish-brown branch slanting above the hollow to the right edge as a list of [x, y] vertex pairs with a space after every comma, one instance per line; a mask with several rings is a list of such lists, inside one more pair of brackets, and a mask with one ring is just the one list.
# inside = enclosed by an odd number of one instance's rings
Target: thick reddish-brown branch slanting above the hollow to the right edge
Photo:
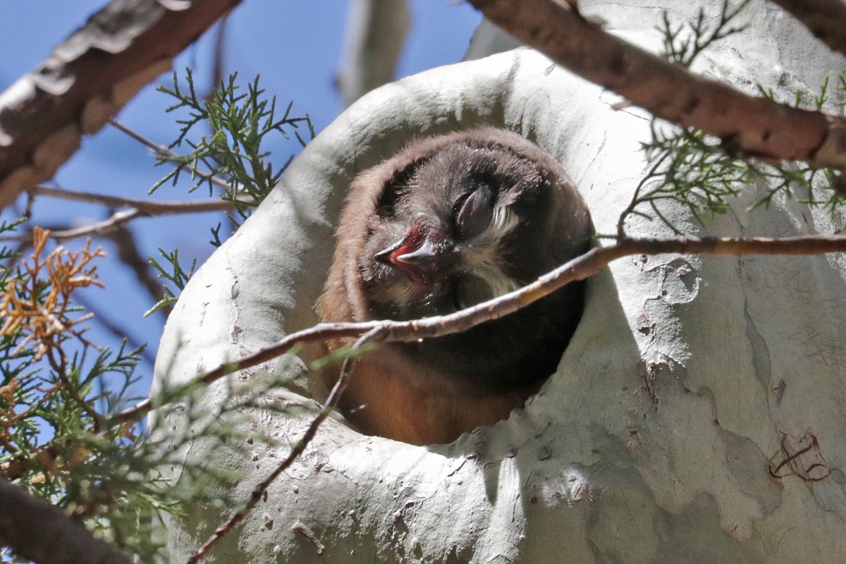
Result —
[[846, 119], [747, 96], [634, 47], [555, 0], [469, 0], [512, 36], [657, 118], [744, 156], [846, 169]]

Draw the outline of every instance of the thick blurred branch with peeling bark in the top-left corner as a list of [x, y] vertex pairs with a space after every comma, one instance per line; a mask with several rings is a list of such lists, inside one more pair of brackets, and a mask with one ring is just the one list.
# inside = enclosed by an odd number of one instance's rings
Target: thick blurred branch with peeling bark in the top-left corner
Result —
[[113, 0], [0, 93], [0, 206], [51, 178], [239, 0]]

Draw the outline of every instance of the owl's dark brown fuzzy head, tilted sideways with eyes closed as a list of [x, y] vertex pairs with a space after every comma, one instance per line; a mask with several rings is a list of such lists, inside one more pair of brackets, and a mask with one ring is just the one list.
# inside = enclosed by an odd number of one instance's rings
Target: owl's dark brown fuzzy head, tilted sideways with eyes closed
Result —
[[432, 141], [409, 146], [367, 218], [358, 267], [374, 318], [464, 309], [585, 249], [584, 205], [536, 145], [500, 129]]

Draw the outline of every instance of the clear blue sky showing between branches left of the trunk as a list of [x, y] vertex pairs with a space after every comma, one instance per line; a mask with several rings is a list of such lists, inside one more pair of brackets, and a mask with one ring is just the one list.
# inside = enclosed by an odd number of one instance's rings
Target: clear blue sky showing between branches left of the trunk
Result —
[[[5, 90], [20, 75], [34, 68], [59, 41], [105, 4], [105, 0], [41, 0], [11, 2], [0, 0], [0, 90]], [[481, 17], [464, 3], [455, 0], [409, 0], [412, 29], [400, 60], [398, 77], [427, 68], [455, 63], [464, 54], [470, 34]], [[239, 78], [251, 80], [261, 75], [261, 85], [277, 96], [278, 105], [294, 101], [294, 114], [308, 113], [317, 132], [325, 128], [341, 110], [341, 100], [334, 78], [343, 61], [343, 41], [348, 3], [342, 0], [316, 0], [294, 3], [279, 0], [249, 0], [229, 18], [225, 55], [226, 73], [238, 71]], [[195, 82], [205, 87], [211, 68], [211, 34], [201, 38], [174, 63], [180, 73], [186, 66], [195, 69]], [[169, 84], [162, 76], [158, 84]], [[176, 138], [173, 118], [165, 114], [171, 99], [148, 86], [131, 101], [118, 119], [159, 143]], [[271, 146], [272, 149], [275, 147]], [[284, 145], [275, 162], [284, 162], [294, 145]], [[62, 188], [146, 197], [151, 185], [162, 177], [162, 169], [143, 146], [117, 130], [107, 127], [84, 141], [82, 150], [62, 167], [55, 183]], [[187, 194], [184, 188], [163, 186], [158, 200], [203, 198], [207, 190]], [[10, 212], [5, 211], [4, 217]], [[39, 200], [33, 208], [34, 222], [85, 224], [105, 218], [102, 207], [74, 204], [63, 200]], [[202, 214], [140, 219], [131, 224], [140, 243], [141, 254], [157, 255], [157, 248], [179, 249], [184, 264], [192, 257], [199, 262], [213, 250], [207, 241], [209, 229], [222, 216]], [[77, 249], [84, 240], [66, 243]], [[115, 249], [107, 241], [98, 241], [109, 253], [101, 260], [99, 274], [105, 290], [86, 291], [86, 301], [96, 304], [96, 311], [124, 326], [139, 342], [157, 348], [163, 319], [160, 315], [143, 318], [151, 307], [151, 298], [138, 287], [131, 271], [120, 266]], [[95, 342], [114, 345], [114, 338], [96, 324], [89, 337]], [[141, 370], [151, 372], [149, 365]]]

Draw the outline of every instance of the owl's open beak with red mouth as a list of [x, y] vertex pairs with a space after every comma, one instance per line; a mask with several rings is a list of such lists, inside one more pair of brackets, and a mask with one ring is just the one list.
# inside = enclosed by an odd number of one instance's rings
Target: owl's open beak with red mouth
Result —
[[419, 292], [448, 271], [454, 261], [454, 246], [439, 230], [418, 220], [396, 244], [382, 249], [374, 260], [404, 273]]

